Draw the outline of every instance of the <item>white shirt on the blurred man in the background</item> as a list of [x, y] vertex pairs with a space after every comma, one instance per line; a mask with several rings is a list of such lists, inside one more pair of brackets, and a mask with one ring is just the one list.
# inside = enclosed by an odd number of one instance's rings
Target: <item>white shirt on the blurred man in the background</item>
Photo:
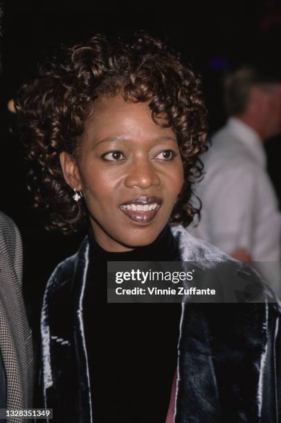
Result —
[[[201, 222], [189, 231], [228, 254], [244, 248], [255, 262], [280, 261], [278, 200], [257, 133], [230, 118], [212, 138], [203, 163], [206, 175], [195, 187]], [[273, 284], [281, 286], [277, 280]]]

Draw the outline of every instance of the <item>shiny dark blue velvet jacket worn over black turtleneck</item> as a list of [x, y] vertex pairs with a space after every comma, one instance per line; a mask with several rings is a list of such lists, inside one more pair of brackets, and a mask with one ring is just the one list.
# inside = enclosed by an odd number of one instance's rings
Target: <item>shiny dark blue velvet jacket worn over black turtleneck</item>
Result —
[[[269, 301], [271, 292], [253, 270], [181, 226], [172, 232], [182, 261], [207, 267], [232, 261], [234, 282], [242, 278], [263, 290], [261, 303], [183, 304], [174, 423], [280, 421], [280, 304]], [[78, 253], [57, 266], [44, 294], [42, 395], [55, 422], [96, 423], [82, 310], [88, 265], [85, 238]]]

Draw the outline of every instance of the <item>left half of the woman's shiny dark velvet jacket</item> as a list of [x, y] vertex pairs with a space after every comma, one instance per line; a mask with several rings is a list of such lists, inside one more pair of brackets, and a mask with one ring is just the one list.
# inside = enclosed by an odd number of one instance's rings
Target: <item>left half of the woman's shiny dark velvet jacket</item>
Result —
[[69, 423], [92, 422], [82, 310], [88, 262], [85, 238], [51, 276], [42, 309], [45, 406], [52, 404], [57, 421]]

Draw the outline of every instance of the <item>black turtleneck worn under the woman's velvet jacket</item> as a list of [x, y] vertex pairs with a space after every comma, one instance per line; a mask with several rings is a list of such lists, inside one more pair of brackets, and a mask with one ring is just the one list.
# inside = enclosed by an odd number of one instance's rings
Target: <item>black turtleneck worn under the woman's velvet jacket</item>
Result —
[[107, 252], [89, 234], [84, 294], [93, 420], [95, 423], [165, 423], [176, 371], [181, 305], [107, 304], [107, 261], [178, 261], [167, 225], [154, 243]]

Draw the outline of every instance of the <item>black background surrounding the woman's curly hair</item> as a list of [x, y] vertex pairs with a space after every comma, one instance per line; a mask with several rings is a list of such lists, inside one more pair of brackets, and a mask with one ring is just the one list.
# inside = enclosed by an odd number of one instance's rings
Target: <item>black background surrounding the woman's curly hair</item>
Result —
[[[281, 4], [278, 1], [120, 1], [7, 0], [3, 19], [3, 74], [0, 91], [0, 209], [17, 223], [24, 242], [24, 294], [31, 320], [37, 314], [48, 276], [73, 254], [84, 234], [46, 232], [30, 207], [19, 140], [9, 131], [7, 102], [33, 75], [44, 52], [61, 42], [80, 41], [93, 32], [145, 29], [165, 37], [203, 79], [210, 133], [224, 124], [221, 79], [244, 62], [280, 66]], [[66, 6], [67, 5], [67, 6]], [[278, 197], [280, 139], [269, 140], [269, 172]]]

